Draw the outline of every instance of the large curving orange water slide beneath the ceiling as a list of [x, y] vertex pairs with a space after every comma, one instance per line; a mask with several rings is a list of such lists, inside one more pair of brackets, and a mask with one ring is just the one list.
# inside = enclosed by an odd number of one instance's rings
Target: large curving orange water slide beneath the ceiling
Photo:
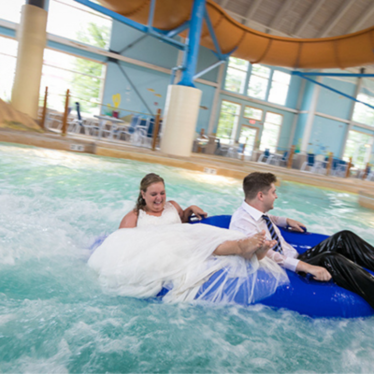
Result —
[[[147, 24], [149, 0], [100, 0], [122, 16]], [[191, 18], [193, 0], [158, 0], [153, 26], [172, 30]], [[230, 17], [212, 0], [206, 6], [223, 54], [252, 63], [300, 69], [348, 68], [374, 64], [374, 27], [333, 38], [296, 39], [265, 34]], [[181, 33], [187, 36], [188, 31]], [[204, 22], [200, 44], [215, 50]]]

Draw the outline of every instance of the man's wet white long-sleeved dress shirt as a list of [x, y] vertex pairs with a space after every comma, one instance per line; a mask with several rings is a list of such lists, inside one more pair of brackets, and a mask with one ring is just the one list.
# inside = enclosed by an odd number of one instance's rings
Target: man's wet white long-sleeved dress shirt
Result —
[[[266, 221], [264, 220], [264, 218], [262, 218], [263, 214], [264, 213], [260, 212], [256, 208], [248, 205], [245, 201], [243, 201], [241, 206], [233, 214], [229, 228], [232, 230], [240, 231], [248, 236], [253, 236], [256, 233], [265, 230], [266, 238], [271, 240], [272, 236], [266, 225]], [[280, 233], [277, 227], [287, 226], [287, 218], [276, 217], [272, 215], [267, 216], [273, 222], [276, 234], [279, 236], [283, 254], [280, 254], [279, 252], [275, 252], [270, 249], [266, 256], [276, 261], [276, 263], [278, 263], [280, 266], [295, 272], [296, 266], [299, 262], [299, 260], [296, 259], [298, 253], [292, 245], [288, 244], [286, 240], [284, 240], [282, 234]]]

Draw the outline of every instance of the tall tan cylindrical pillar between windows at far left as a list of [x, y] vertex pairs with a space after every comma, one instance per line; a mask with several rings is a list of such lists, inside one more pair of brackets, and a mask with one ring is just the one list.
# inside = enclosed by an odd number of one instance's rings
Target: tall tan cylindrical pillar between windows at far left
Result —
[[[32, 5], [32, 4], [36, 5]], [[38, 118], [39, 87], [43, 52], [47, 40], [47, 11], [42, 2], [29, 1], [22, 6], [17, 31], [18, 52], [16, 74], [12, 90], [13, 107], [31, 118]]]

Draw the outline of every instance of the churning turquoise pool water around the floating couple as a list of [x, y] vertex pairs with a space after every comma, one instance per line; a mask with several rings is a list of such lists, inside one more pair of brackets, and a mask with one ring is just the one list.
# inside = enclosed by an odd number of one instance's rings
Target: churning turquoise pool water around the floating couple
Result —
[[[148, 172], [182, 207], [231, 214], [242, 200], [234, 179], [0, 144], [1, 373], [373, 372], [374, 317], [105, 295], [83, 249], [118, 227]], [[278, 192], [275, 214], [374, 243], [356, 196], [286, 182]]]

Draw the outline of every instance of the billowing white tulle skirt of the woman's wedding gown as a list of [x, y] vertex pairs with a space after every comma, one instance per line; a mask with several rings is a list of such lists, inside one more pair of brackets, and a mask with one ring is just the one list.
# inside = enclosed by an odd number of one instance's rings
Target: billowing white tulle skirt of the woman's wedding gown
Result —
[[[172, 215], [172, 210], [165, 216]], [[240, 232], [204, 224], [141, 224], [108, 236], [88, 264], [98, 272], [102, 286], [117, 295], [150, 297], [166, 287], [170, 291], [163, 298], [165, 302], [197, 298], [229, 303], [244, 292], [249, 304], [273, 294], [288, 278], [267, 258], [258, 261], [256, 256], [245, 260], [212, 255], [224, 241], [244, 237]], [[217, 279], [212, 278], [209, 290], [204, 291], [201, 286], [216, 274]], [[266, 285], [258, 281], [259, 274], [265, 275]]]

